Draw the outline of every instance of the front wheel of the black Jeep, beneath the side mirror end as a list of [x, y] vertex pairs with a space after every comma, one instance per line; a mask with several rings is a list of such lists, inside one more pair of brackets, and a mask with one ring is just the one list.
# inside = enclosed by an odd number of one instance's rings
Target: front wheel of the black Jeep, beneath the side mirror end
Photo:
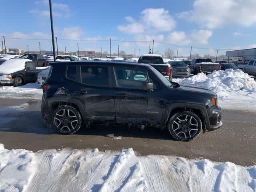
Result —
[[179, 141], [191, 141], [201, 132], [202, 121], [193, 112], [176, 112], [170, 118], [168, 130]]

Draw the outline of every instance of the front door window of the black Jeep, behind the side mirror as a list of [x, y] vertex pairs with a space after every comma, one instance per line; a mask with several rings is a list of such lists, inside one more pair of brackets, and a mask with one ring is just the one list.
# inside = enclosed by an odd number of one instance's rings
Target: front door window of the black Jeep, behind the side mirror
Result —
[[131, 68], [115, 68], [117, 86], [122, 88], [143, 89], [144, 82], [148, 82], [145, 70]]

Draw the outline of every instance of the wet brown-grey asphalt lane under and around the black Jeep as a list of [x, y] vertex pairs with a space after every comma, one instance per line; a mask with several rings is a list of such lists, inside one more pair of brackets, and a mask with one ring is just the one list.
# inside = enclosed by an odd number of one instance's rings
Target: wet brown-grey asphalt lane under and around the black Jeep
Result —
[[[122, 150], [133, 148], [138, 155], [173, 155], [185, 158], [207, 158], [218, 162], [256, 164], [256, 114], [223, 110], [222, 128], [202, 133], [191, 142], [174, 140], [167, 131], [156, 128], [92, 125], [74, 135], [62, 135], [48, 128], [38, 100], [0, 98], [0, 143], [8, 149], [34, 152], [60, 148], [98, 148]], [[106, 137], [114, 134], [114, 138]], [[118, 137], [119, 138], [116, 138]]]

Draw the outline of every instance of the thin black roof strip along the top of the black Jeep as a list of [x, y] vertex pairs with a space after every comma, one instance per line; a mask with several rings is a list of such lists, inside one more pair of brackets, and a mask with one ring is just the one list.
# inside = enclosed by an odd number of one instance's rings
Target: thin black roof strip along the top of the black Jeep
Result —
[[63, 61], [63, 62], [50, 62], [50, 65], [54, 66], [55, 64], [100, 64], [106, 66], [125, 66], [125, 67], [150, 67], [150, 64], [137, 63], [137, 62], [124, 62], [124, 61]]

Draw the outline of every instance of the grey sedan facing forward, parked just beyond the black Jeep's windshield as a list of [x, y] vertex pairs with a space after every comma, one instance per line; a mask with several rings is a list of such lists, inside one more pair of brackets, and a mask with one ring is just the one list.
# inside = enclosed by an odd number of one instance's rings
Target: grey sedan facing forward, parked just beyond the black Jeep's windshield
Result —
[[172, 77], [190, 77], [190, 68], [184, 61], [169, 61], [172, 68]]

